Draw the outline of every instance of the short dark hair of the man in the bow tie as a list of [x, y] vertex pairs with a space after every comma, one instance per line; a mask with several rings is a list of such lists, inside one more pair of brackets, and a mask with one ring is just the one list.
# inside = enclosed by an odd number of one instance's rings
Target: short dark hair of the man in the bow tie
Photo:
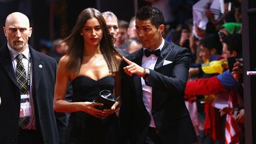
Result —
[[164, 15], [162, 11], [156, 6], [146, 5], [140, 8], [136, 14], [136, 19], [147, 20], [150, 19], [151, 23], [156, 28], [160, 25], [164, 25]]

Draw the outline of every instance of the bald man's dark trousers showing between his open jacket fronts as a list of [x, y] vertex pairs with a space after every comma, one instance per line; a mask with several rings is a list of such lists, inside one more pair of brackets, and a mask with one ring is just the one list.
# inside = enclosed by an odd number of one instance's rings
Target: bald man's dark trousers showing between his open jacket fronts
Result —
[[18, 130], [19, 144], [43, 144], [43, 138], [41, 132], [38, 130]]

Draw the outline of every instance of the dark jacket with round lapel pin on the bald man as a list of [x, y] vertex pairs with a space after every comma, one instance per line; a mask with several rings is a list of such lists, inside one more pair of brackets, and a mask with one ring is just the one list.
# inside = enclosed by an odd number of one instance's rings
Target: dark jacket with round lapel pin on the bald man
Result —
[[[53, 109], [56, 60], [29, 46], [36, 129], [44, 143], [59, 143]], [[42, 67], [39, 67], [41, 65]], [[0, 48], [0, 143], [17, 143], [20, 92], [7, 45]]]

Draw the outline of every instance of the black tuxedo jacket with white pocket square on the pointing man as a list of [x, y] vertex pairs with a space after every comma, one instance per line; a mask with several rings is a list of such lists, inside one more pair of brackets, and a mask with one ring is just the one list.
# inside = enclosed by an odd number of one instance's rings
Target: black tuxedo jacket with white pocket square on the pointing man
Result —
[[[143, 48], [127, 56], [142, 65]], [[152, 115], [156, 130], [163, 143], [185, 144], [197, 141], [189, 112], [184, 103], [184, 90], [189, 68], [190, 52], [187, 48], [165, 41], [154, 70], [146, 85], [152, 90]], [[164, 61], [171, 63], [164, 65]], [[127, 63], [122, 61], [122, 67]], [[123, 139], [131, 143], [144, 143], [149, 129], [150, 117], [142, 100], [141, 77], [128, 76], [122, 72], [122, 105], [120, 123]]]

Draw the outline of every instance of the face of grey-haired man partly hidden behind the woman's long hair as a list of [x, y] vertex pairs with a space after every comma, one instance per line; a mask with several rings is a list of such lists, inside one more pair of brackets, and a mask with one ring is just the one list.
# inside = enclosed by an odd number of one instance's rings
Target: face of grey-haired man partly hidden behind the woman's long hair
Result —
[[105, 16], [104, 19], [106, 21], [107, 28], [109, 28], [109, 32], [114, 37], [114, 42], [115, 42], [119, 32], [118, 21], [117, 19], [114, 19], [114, 17]]

